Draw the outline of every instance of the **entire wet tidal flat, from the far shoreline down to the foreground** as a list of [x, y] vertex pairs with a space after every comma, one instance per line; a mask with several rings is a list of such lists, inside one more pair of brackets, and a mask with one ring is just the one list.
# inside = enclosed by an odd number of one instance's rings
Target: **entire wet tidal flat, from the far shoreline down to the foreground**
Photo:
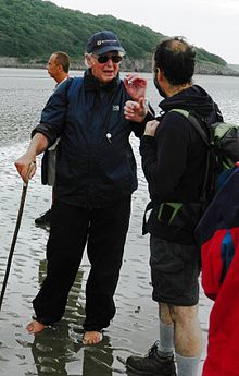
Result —
[[[81, 73], [72, 72], [72, 76]], [[156, 109], [159, 95], [153, 87], [151, 74], [143, 75], [149, 82], [148, 97]], [[194, 77], [194, 82], [213, 96], [226, 121], [239, 123], [238, 77], [199, 75]], [[22, 181], [14, 160], [24, 153], [30, 131], [37, 124], [40, 111], [53, 88], [54, 82], [45, 70], [0, 69], [0, 287], [22, 193]], [[46, 275], [45, 248], [48, 231], [36, 227], [34, 220], [51, 204], [51, 189], [40, 183], [41, 157], [38, 157], [38, 171], [28, 185], [0, 312], [1, 376], [127, 375], [125, 359], [134, 353], [146, 353], [158, 339], [158, 307], [151, 300], [149, 238], [141, 235], [142, 214], [149, 197], [140, 169], [139, 143], [134, 137], [131, 142], [138, 161], [139, 187], [134, 194], [130, 228], [115, 294], [117, 313], [105, 330], [103, 341], [96, 347], [83, 347], [79, 340], [85, 284], [89, 271], [86, 256], [61, 323], [36, 336], [28, 335], [25, 330], [33, 314], [32, 301]], [[199, 315], [205, 347], [211, 307], [212, 302], [201, 291]]]

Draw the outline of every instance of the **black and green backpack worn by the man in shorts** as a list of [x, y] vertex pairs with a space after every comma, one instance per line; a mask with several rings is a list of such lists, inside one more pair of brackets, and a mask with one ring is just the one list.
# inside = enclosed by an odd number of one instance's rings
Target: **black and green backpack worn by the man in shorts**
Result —
[[[172, 109], [188, 119], [202, 141], [207, 146], [204, 181], [198, 203], [161, 203], [147, 205], [142, 234], [148, 232], [146, 214], [154, 208], [156, 218], [164, 225], [176, 226], [178, 229], [186, 227], [190, 232], [198, 225], [203, 213], [227, 179], [230, 168], [239, 161], [239, 126], [218, 120], [210, 124], [206, 119], [200, 118], [197, 112], [183, 109]], [[218, 116], [218, 119], [223, 119]]]

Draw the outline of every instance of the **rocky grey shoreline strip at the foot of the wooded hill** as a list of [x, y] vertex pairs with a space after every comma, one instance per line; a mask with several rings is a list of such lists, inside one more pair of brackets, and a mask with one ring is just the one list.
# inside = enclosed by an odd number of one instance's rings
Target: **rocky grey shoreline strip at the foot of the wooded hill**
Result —
[[[237, 65], [236, 65], [237, 66]], [[46, 63], [39, 63], [36, 60], [32, 60], [26, 63], [20, 62], [17, 58], [0, 57], [0, 68], [27, 68], [27, 69], [45, 69]], [[85, 63], [83, 60], [73, 61], [71, 64], [72, 71], [85, 70]], [[130, 60], [124, 59], [121, 64], [122, 71], [125, 72], [147, 72], [150, 73], [152, 69], [151, 60]], [[202, 75], [223, 75], [239, 77], [239, 70], [231, 69], [230, 66], [223, 66], [215, 63], [197, 63], [196, 74]]]

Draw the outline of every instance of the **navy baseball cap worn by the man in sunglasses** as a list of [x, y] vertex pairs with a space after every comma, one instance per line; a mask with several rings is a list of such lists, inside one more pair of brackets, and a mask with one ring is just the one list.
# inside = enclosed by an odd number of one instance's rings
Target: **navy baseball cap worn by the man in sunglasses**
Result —
[[110, 51], [125, 53], [117, 36], [109, 31], [98, 32], [88, 39], [86, 51], [88, 53], [103, 54]]

